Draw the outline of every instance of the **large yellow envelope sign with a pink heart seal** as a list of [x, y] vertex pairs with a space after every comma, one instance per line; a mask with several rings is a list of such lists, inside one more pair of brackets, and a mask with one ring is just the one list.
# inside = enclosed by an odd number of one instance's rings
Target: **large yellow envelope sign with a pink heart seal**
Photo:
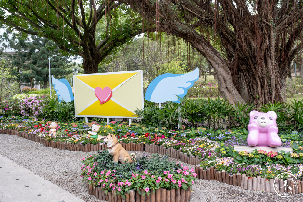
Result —
[[74, 75], [75, 116], [136, 118], [143, 109], [143, 71]]

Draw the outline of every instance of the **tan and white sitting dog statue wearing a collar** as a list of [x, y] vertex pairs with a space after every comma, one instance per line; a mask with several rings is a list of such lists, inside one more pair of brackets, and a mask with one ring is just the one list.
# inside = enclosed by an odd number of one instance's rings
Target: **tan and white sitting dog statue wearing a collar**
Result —
[[[114, 162], [120, 161], [122, 164], [127, 161], [132, 162], [132, 157], [135, 158], [134, 153], [128, 154], [128, 152], [118, 143], [117, 137], [108, 133], [108, 136], [104, 139], [107, 143], [108, 152], [113, 155]], [[131, 157], [132, 156], [132, 157]]]

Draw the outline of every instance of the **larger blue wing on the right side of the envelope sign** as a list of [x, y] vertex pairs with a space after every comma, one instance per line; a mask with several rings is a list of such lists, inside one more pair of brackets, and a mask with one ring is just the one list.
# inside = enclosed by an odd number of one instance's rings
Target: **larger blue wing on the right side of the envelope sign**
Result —
[[151, 81], [144, 98], [155, 103], [180, 102], [177, 96], [183, 98], [198, 78], [198, 68], [186, 74], [162, 74]]

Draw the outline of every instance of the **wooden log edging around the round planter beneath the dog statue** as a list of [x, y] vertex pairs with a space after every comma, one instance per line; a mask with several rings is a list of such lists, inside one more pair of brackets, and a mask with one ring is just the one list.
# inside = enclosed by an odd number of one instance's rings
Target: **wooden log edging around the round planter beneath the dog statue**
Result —
[[[144, 189], [140, 190], [142, 193], [145, 192]], [[135, 202], [135, 201], [146, 201], [146, 202], [189, 202], [191, 198], [191, 188], [188, 187], [187, 190], [184, 189], [171, 189], [167, 190], [165, 188], [156, 189], [153, 193], [150, 190], [149, 196], [145, 194], [142, 196], [137, 190], [130, 190], [129, 193], [125, 194], [125, 198], [121, 195], [116, 194], [115, 190], [105, 194], [105, 190], [102, 187], [93, 187], [91, 184], [87, 184], [87, 192], [89, 195], [94, 195], [97, 199], [107, 200], [109, 202]]]

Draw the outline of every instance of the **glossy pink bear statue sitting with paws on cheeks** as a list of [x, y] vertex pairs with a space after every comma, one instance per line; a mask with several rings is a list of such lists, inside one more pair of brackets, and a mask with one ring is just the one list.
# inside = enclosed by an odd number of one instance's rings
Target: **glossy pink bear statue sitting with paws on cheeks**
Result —
[[277, 114], [274, 111], [267, 113], [251, 111], [249, 113], [248, 137], [249, 146], [279, 147], [282, 144], [278, 136]]

